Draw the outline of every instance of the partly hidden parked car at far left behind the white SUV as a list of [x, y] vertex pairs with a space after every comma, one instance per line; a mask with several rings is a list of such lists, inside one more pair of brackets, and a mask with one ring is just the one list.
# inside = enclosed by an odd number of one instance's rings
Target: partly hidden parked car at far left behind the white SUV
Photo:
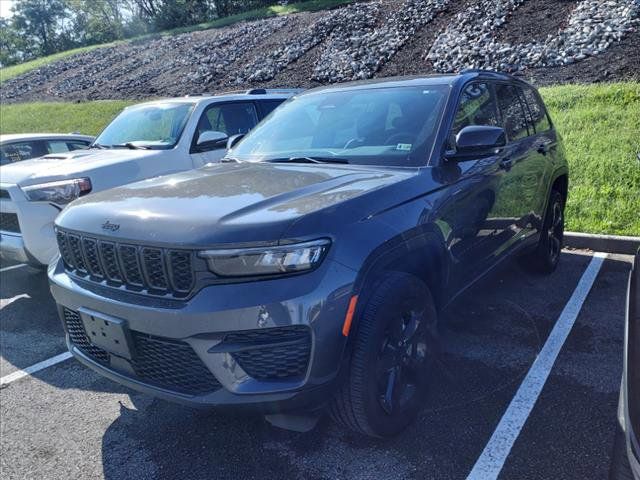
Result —
[[93, 137], [75, 133], [21, 133], [0, 135], [0, 165], [42, 157], [49, 153], [87, 148]]

